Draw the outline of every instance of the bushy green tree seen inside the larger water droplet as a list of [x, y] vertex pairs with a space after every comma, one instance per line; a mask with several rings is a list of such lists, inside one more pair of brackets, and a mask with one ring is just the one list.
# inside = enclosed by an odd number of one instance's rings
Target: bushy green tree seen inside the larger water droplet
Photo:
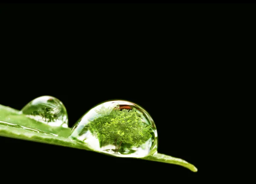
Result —
[[102, 107], [96, 112], [99, 116], [88, 123], [88, 130], [103, 144], [114, 144], [116, 153], [122, 144], [139, 146], [152, 136], [151, 126], [142, 122], [143, 114], [135, 108]]

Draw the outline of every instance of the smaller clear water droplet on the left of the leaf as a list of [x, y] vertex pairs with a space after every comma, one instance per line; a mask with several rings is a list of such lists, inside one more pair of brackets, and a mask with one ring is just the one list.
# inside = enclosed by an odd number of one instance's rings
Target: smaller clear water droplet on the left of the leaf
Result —
[[54, 127], [68, 127], [67, 110], [63, 103], [53, 96], [40, 96], [29, 102], [20, 113]]

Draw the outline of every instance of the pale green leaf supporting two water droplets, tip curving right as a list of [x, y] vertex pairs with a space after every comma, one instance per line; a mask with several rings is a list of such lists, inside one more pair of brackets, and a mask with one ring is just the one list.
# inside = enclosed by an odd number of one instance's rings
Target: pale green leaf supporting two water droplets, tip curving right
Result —
[[[8, 123], [9, 125], [6, 126]], [[69, 139], [70, 132], [70, 128], [51, 127], [20, 114], [18, 110], [0, 105], [0, 136], [98, 152], [87, 144], [81, 144]], [[194, 165], [189, 164], [187, 161], [160, 153], [139, 159], [176, 164], [193, 172], [198, 171]]]

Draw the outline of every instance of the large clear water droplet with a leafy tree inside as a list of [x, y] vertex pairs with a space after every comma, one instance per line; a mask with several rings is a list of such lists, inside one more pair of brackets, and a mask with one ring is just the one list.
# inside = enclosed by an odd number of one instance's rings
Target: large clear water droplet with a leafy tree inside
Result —
[[70, 138], [91, 149], [119, 157], [157, 153], [157, 129], [151, 116], [127, 101], [104, 102], [84, 114]]

